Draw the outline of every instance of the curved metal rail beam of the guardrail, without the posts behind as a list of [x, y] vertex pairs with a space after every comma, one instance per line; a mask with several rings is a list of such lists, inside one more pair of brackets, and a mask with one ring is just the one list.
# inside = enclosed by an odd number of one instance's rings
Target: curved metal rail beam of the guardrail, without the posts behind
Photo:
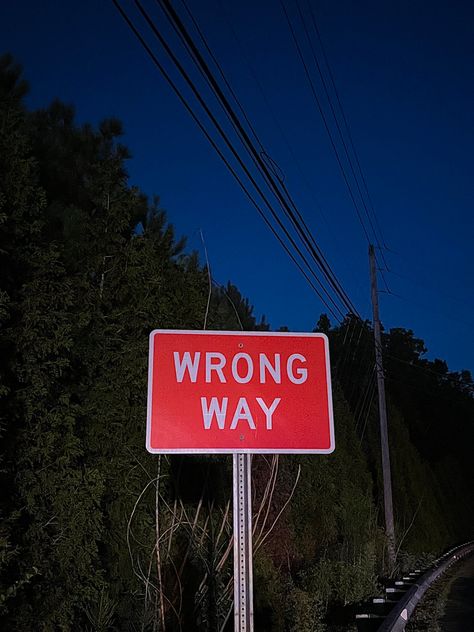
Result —
[[431, 584], [452, 564], [473, 551], [474, 541], [451, 549], [440, 557], [392, 608], [377, 632], [400, 632], [404, 630], [414, 609]]

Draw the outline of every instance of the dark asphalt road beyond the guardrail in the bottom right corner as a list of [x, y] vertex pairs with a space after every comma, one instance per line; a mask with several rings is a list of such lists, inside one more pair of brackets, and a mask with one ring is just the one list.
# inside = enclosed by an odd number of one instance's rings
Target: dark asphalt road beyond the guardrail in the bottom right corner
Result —
[[474, 555], [459, 565], [438, 625], [442, 632], [474, 632]]

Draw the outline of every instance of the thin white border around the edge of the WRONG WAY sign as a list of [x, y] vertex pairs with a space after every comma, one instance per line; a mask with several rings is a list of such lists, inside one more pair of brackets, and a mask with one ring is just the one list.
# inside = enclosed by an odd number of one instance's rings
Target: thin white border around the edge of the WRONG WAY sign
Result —
[[[154, 339], [157, 334], [193, 334], [200, 336], [292, 336], [293, 338], [322, 338], [326, 359], [326, 385], [329, 408], [329, 439], [330, 445], [326, 449], [295, 449], [295, 448], [152, 448], [151, 447], [151, 399], [153, 381]], [[148, 396], [146, 420], [146, 449], [151, 454], [331, 454], [335, 449], [334, 413], [332, 405], [331, 365], [329, 361], [329, 339], [323, 333], [289, 332], [289, 331], [220, 331], [214, 329], [154, 329], [150, 333], [148, 348]]]

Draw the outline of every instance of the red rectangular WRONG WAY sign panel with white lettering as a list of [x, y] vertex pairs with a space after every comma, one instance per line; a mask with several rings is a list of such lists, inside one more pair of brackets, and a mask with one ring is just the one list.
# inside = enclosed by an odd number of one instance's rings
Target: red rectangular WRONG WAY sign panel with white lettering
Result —
[[332, 452], [327, 337], [153, 331], [147, 449], [154, 453]]

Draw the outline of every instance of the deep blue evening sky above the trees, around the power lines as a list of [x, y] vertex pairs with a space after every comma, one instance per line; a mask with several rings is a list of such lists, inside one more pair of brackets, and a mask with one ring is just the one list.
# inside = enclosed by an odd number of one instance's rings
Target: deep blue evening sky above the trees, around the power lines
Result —
[[[296, 4], [285, 4], [304, 42]], [[161, 24], [156, 5], [147, 6]], [[367, 241], [279, 0], [190, 6], [318, 244], [370, 317]], [[428, 357], [446, 359], [451, 370], [472, 369], [474, 5], [317, 0], [313, 7], [394, 251], [385, 255], [392, 270], [385, 277], [403, 298], [381, 294], [383, 323], [413, 329]], [[80, 122], [123, 121], [131, 182], [159, 194], [177, 233], [201, 254], [202, 229], [218, 281], [235, 283], [273, 328], [313, 328], [326, 308], [111, 2], [2, 3], [0, 42], [24, 66], [31, 107], [59, 97], [75, 105]]]

